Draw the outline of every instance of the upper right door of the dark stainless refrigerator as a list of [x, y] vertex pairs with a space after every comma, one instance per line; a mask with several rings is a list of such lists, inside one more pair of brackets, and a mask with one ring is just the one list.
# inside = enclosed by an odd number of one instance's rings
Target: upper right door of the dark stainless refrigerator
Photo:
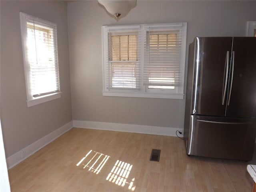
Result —
[[256, 38], [234, 37], [226, 116], [256, 117]]

